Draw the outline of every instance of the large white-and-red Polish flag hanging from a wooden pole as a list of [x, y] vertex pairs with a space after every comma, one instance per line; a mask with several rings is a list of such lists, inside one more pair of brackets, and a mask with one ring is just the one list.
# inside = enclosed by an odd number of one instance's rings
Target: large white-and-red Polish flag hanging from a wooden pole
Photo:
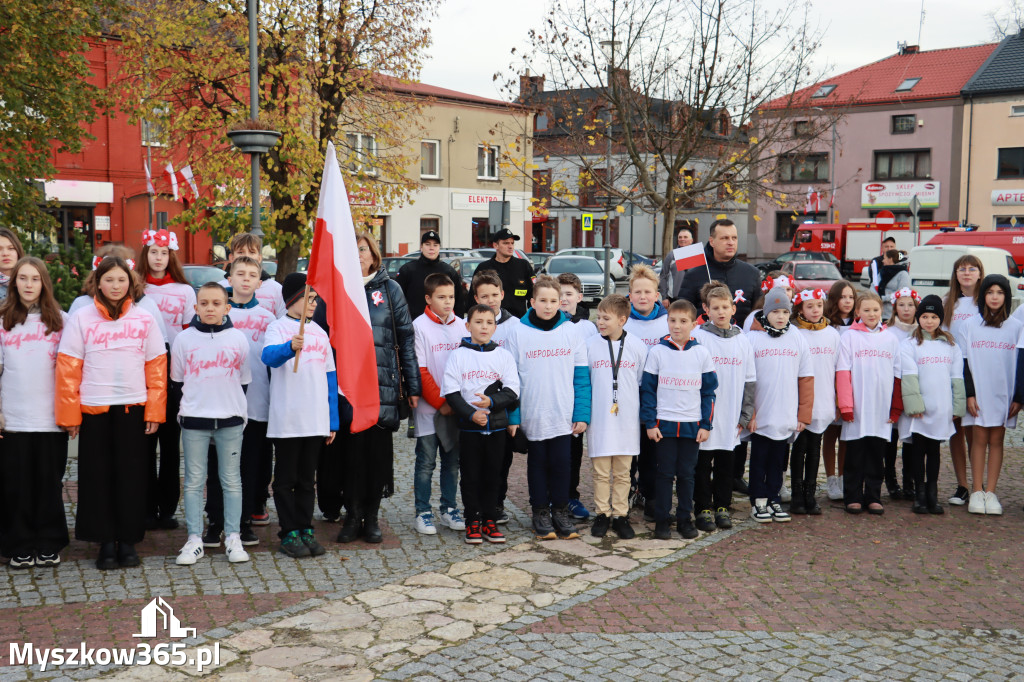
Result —
[[377, 355], [355, 225], [332, 142], [327, 144], [306, 279], [327, 306], [331, 345], [338, 357], [338, 388], [352, 404], [352, 432], [365, 431], [380, 415]]

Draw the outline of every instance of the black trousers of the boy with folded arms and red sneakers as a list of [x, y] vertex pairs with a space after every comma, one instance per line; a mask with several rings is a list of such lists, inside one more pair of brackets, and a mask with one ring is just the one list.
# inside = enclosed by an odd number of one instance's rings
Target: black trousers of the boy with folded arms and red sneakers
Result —
[[507, 435], [504, 429], [459, 433], [459, 476], [467, 521], [494, 521], [501, 509], [499, 493]]

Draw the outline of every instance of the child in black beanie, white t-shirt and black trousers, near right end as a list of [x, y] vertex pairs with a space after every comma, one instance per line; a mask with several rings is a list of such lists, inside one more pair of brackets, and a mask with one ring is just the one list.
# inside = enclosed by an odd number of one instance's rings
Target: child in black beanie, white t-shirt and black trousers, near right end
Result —
[[941, 514], [939, 444], [953, 434], [953, 419], [967, 411], [964, 355], [952, 335], [941, 328], [941, 298], [926, 296], [918, 306], [916, 319], [918, 329], [900, 343], [900, 438], [910, 440], [909, 454], [904, 450], [903, 459], [913, 478], [911, 510]]

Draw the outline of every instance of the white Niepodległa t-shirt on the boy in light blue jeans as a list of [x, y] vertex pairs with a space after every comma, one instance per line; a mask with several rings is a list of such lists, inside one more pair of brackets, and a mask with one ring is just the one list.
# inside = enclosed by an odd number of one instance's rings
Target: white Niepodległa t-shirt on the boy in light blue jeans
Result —
[[180, 417], [228, 419], [248, 414], [244, 384], [252, 381], [249, 341], [228, 327], [201, 332], [189, 327], [171, 346], [171, 381], [181, 389]]

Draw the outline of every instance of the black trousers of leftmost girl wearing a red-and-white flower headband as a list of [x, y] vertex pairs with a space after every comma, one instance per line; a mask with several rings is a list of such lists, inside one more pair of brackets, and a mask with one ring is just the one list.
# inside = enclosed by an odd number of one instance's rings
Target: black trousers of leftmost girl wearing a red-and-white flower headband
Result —
[[[171, 367], [170, 355], [167, 367]], [[181, 427], [178, 410], [181, 407], [181, 388], [167, 382], [167, 421], [157, 432], [145, 436], [148, 445], [148, 475], [145, 484], [145, 513], [152, 518], [170, 518], [178, 509], [181, 499]], [[157, 454], [157, 445], [160, 454]]]

